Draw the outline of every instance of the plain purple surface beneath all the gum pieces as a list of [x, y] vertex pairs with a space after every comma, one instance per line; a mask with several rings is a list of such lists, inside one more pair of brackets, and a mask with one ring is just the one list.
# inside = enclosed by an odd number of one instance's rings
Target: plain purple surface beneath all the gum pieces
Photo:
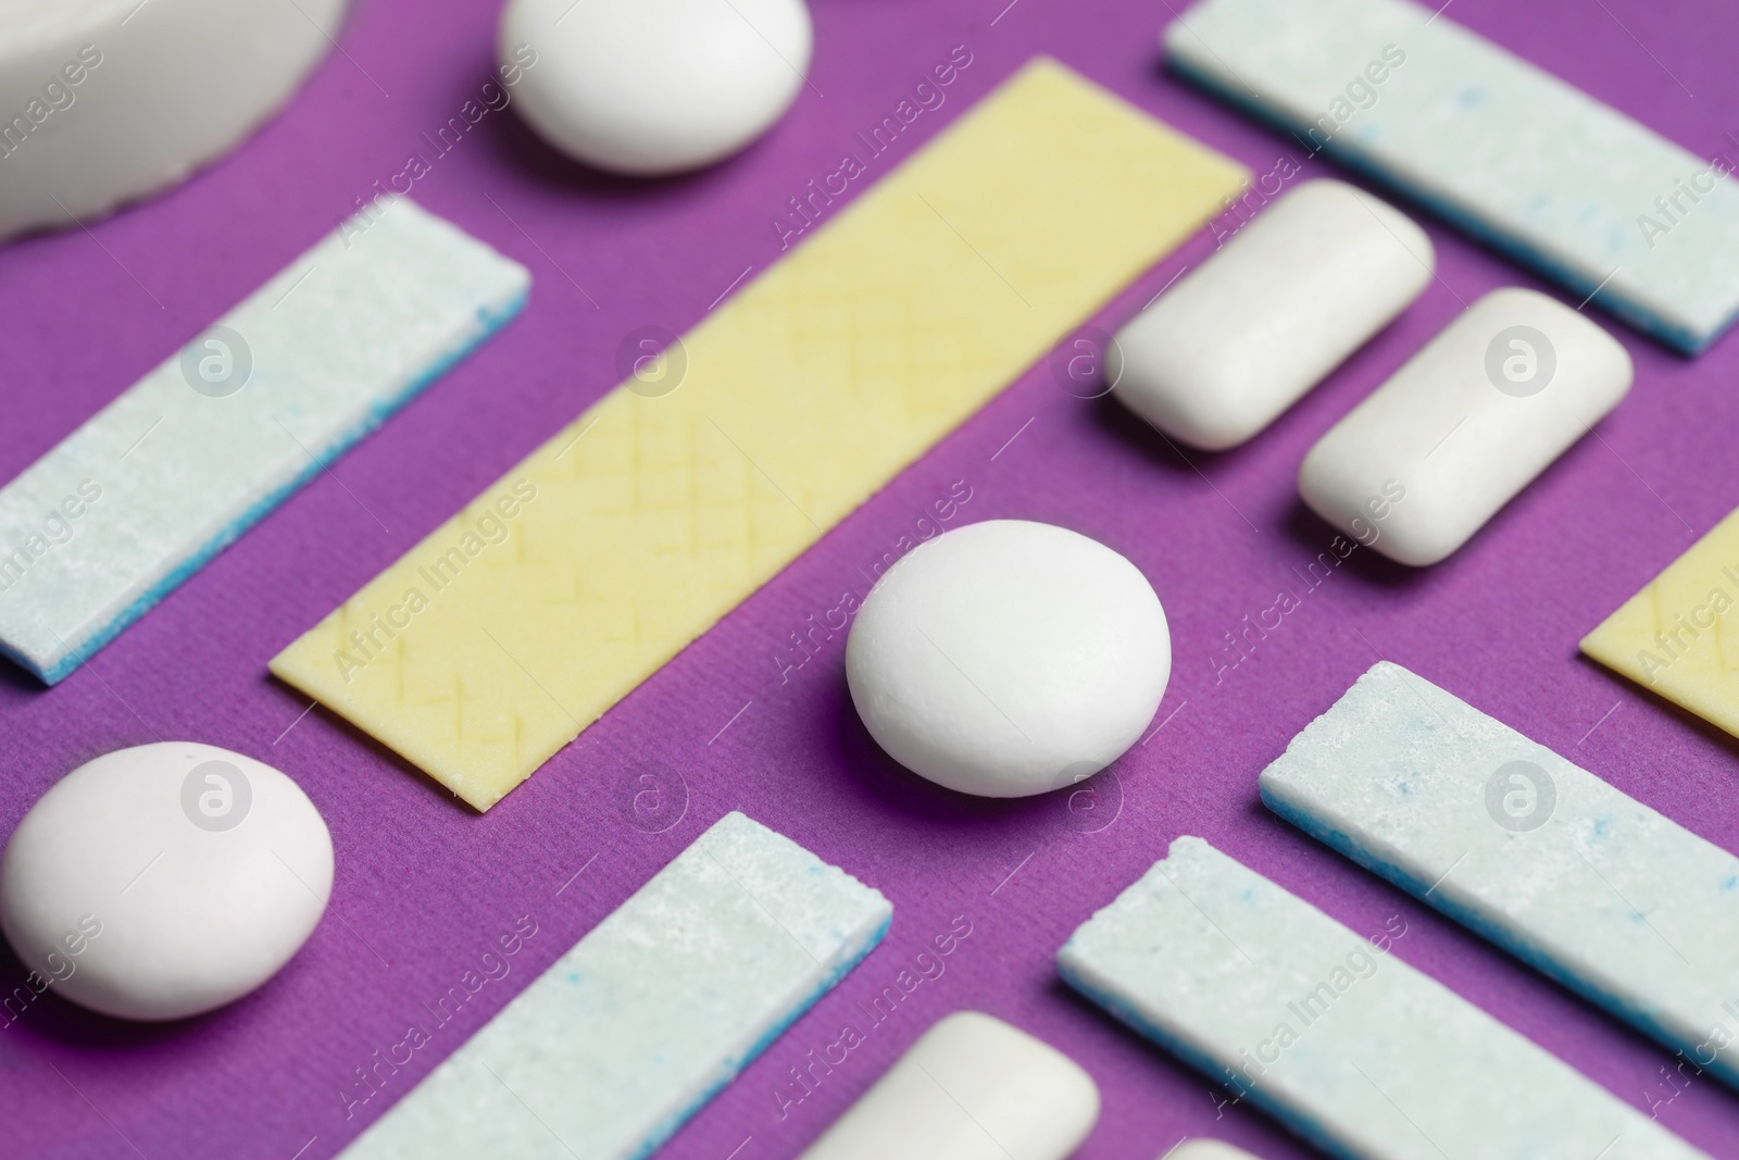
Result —
[[[949, 47], [967, 45], [972, 66], [937, 113], [871, 163], [873, 176], [1040, 50], [1256, 172], [1282, 153], [1303, 160], [1296, 144], [1158, 70], [1155, 33], [1170, 5], [1003, 2], [814, 0], [814, 89], [765, 141], [697, 177], [593, 176], [544, 150], [511, 111], [489, 115], [433, 163], [414, 197], [532, 270], [525, 315], [343, 457], [343, 485], [316, 478], [87, 670], [52, 690], [0, 671], [0, 831], [99, 753], [209, 741], [283, 769], [325, 814], [339, 870], [330, 910], [278, 979], [203, 1019], [127, 1026], [57, 998], [33, 1003], [0, 1031], [0, 1155], [330, 1157], [729, 809], [875, 883], [896, 920], [833, 995], [682, 1129], [663, 1153], [671, 1160], [795, 1155], [960, 1007], [1031, 1030], [1094, 1075], [1104, 1113], [1080, 1151], [1087, 1160], [1149, 1160], [1186, 1132], [1271, 1160], [1306, 1155], [1250, 1108], [1226, 1108], [1216, 1123], [1203, 1078], [1056, 981], [1052, 953], [1069, 930], [1181, 833], [1210, 838], [1355, 930], [1374, 934], [1402, 915], [1403, 960], [1621, 1099], [1645, 1108], [1673, 1094], [1661, 1078], [1666, 1052], [1257, 802], [1263, 765], [1381, 652], [1739, 849], [1736, 743], [1576, 654], [1588, 628], [1739, 503], [1734, 339], [1685, 362], [1602, 318], [1636, 360], [1636, 388], [1596, 438], [1450, 562], [1409, 572], [1360, 551], [1304, 595], [1297, 572], [1330, 539], [1296, 499], [1309, 443], [1464, 301], [1539, 285], [1431, 223], [1440, 268], [1423, 299], [1247, 447], [1186, 461], [1108, 400], [1073, 398], [1036, 367], [485, 817], [325, 711], [285, 734], [308, 701], [266, 675], [268, 657], [609, 390], [628, 330], [683, 330], [744, 268], [770, 264], [769, 219], [784, 200], [830, 172], [852, 132], [890, 113]], [[94, 226], [101, 245], [71, 230], [5, 247], [0, 478], [330, 230], [409, 151], [430, 155], [421, 134], [489, 75], [496, 14], [497, 0], [362, 0], [344, 54], [235, 157]], [[1450, 16], [1694, 153], [1739, 155], [1727, 134], [1739, 125], [1722, 120], [1739, 108], [1739, 17], [1723, 0], [1461, 0]], [[1311, 162], [1308, 172], [1330, 167]], [[1210, 249], [1198, 237], [1099, 323], [1115, 327]], [[977, 802], [896, 767], [852, 711], [843, 638], [781, 682], [788, 633], [843, 591], [861, 595], [859, 569], [915, 536], [955, 480], [972, 489], [955, 525], [1024, 517], [1078, 529], [1129, 555], [1170, 614], [1176, 670], [1160, 720], [1176, 715], [1116, 765], [1116, 786], [1085, 816], [1115, 817], [1097, 833], [1083, 833], [1083, 816], [1057, 797]], [[1216, 682], [1216, 642], [1282, 588], [1303, 607]], [[664, 833], [635, 828], [619, 809], [619, 786], [643, 760], [685, 783], [676, 797], [685, 791], [687, 810]], [[410, 1023], [428, 1024], [423, 1003], [520, 915], [539, 932], [508, 979], [483, 988], [346, 1120], [353, 1070]], [[781, 1120], [781, 1077], [842, 1023], [861, 1021], [854, 1003], [892, 984], [956, 915], [972, 936], [946, 974]], [[21, 977], [0, 951], [0, 981]], [[1659, 1115], [1701, 1148], [1739, 1157], [1739, 1096], [1713, 1080]]]

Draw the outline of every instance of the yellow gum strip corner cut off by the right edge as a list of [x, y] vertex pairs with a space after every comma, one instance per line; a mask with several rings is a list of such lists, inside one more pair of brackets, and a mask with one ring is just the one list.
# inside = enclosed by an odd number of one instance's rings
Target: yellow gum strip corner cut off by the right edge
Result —
[[1582, 652], [1739, 736], [1739, 511], [1582, 637]]

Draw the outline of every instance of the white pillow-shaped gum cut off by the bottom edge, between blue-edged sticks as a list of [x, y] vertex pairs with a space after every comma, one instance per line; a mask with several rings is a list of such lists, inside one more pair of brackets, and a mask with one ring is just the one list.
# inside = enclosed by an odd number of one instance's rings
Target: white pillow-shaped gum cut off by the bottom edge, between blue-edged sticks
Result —
[[904, 1056], [800, 1160], [1064, 1160], [1099, 1118], [1099, 1087], [1056, 1047], [958, 1010]]

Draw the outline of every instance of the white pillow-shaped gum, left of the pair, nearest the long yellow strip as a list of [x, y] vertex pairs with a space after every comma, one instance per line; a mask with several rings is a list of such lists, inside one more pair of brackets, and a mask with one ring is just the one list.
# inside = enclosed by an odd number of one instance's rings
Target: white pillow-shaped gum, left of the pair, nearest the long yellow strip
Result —
[[1193, 447], [1236, 447], [1419, 297], [1435, 264], [1395, 207], [1306, 181], [1118, 330], [1113, 395]]

